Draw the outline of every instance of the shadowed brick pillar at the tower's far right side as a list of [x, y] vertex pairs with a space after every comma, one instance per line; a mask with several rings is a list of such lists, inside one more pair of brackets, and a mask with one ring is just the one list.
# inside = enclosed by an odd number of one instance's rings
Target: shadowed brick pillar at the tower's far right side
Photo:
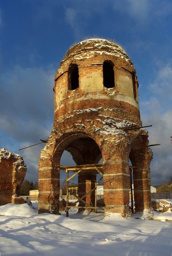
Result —
[[150, 188], [150, 162], [152, 160], [152, 152], [142, 147], [134, 151], [134, 158], [136, 166], [136, 168], [133, 168], [135, 212], [143, 212], [144, 209], [150, 209], [152, 207]]

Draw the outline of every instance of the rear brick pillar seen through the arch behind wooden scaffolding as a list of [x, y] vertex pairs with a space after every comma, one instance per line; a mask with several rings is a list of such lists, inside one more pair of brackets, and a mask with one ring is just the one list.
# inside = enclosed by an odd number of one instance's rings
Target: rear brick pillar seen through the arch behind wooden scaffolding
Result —
[[[92, 173], [82, 173], [78, 174], [78, 196], [82, 197], [84, 194], [95, 188], [96, 174]], [[88, 194], [83, 198], [86, 203], [89, 203], [91, 206], [95, 205], [95, 191]], [[79, 206], [86, 206], [85, 203], [79, 203]], [[78, 212], [82, 212], [85, 209], [79, 208]], [[86, 209], [90, 211], [90, 209]]]

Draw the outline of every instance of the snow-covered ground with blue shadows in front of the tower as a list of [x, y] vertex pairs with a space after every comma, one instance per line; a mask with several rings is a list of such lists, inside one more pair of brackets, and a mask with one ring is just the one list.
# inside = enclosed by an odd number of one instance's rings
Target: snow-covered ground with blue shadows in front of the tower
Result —
[[[169, 200], [170, 202], [170, 200]], [[172, 202], [172, 201], [171, 201]], [[171, 256], [172, 212], [122, 218], [37, 214], [37, 203], [0, 206], [0, 256]], [[153, 215], [154, 214], [154, 215]], [[163, 221], [148, 221], [147, 216]]]

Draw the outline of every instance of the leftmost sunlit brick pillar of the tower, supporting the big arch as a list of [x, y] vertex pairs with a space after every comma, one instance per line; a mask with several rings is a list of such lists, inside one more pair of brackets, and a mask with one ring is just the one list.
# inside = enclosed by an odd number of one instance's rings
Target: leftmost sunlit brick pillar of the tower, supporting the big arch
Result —
[[51, 156], [40, 158], [38, 173], [38, 212], [59, 214], [60, 170], [55, 168]]

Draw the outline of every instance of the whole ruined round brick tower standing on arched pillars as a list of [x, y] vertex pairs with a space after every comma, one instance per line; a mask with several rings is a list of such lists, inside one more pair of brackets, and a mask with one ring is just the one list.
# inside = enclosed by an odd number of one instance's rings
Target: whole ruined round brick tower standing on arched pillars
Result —
[[[128, 210], [133, 169], [135, 211], [151, 207], [148, 133], [140, 127], [138, 81], [126, 52], [112, 41], [92, 38], [66, 53], [55, 75], [54, 125], [40, 155], [39, 213], [58, 213], [59, 168], [64, 150], [76, 165], [103, 159], [105, 213]], [[78, 194], [95, 184], [94, 173], [78, 174]], [[85, 191], [83, 191], [85, 189]], [[90, 202], [93, 194], [85, 198]]]

